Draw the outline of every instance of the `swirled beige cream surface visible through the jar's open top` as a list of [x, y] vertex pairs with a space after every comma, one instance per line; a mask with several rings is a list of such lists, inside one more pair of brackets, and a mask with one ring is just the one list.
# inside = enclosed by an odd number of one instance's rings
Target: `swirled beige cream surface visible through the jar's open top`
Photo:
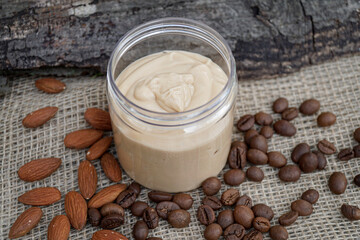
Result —
[[197, 53], [164, 51], [131, 63], [116, 80], [133, 103], [155, 112], [183, 112], [214, 98], [225, 86], [225, 72]]

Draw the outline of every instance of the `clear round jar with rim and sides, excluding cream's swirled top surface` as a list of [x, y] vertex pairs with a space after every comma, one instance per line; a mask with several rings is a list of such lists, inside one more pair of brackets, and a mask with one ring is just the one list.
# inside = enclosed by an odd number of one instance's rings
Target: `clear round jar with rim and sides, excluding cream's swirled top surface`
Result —
[[[210, 58], [228, 76], [225, 87], [208, 103], [184, 112], [160, 113], [134, 104], [119, 91], [117, 77], [132, 62], [164, 50]], [[163, 18], [130, 30], [117, 43], [107, 69], [107, 97], [121, 166], [153, 190], [199, 187], [226, 163], [236, 94], [232, 52], [212, 28], [189, 19]]]

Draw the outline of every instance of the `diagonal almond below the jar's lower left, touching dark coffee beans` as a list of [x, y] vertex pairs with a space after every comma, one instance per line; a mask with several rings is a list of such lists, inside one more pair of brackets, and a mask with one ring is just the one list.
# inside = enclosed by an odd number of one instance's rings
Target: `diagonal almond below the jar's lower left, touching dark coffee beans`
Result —
[[126, 189], [125, 184], [116, 184], [109, 187], [106, 187], [95, 196], [93, 196], [88, 202], [89, 208], [100, 208], [106, 203], [113, 202], [117, 196]]

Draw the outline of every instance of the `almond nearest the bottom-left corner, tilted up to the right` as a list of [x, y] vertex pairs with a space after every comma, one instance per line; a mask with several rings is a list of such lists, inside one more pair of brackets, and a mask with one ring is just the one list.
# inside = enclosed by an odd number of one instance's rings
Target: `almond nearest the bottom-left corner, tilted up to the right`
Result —
[[22, 237], [30, 232], [40, 222], [42, 215], [43, 212], [38, 207], [31, 207], [25, 210], [10, 228], [9, 238]]

